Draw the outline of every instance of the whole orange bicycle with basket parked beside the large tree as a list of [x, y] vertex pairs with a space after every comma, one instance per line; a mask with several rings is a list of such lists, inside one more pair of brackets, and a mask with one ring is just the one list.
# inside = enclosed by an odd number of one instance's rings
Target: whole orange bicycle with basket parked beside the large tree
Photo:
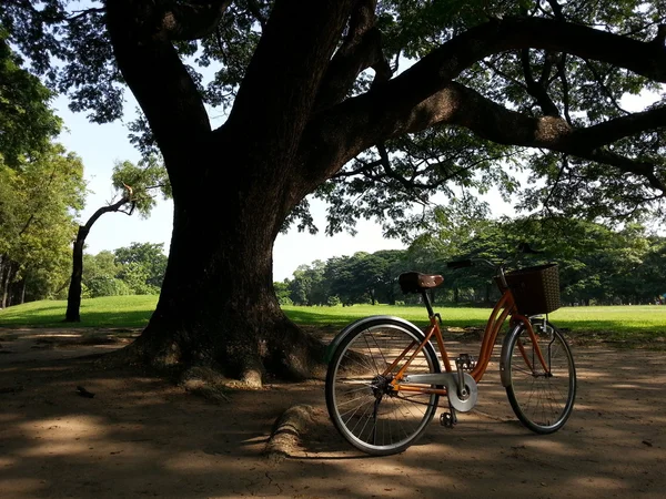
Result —
[[[526, 245], [522, 248], [536, 253]], [[377, 315], [359, 319], [335, 336], [327, 352], [326, 407], [352, 446], [374, 456], [404, 451], [427, 429], [441, 396], [447, 397], [448, 411], [440, 422], [455, 426], [456, 413], [472, 410], [477, 401], [477, 384], [507, 318], [500, 375], [513, 411], [536, 434], [553, 434], [564, 426], [574, 407], [576, 369], [566, 339], [547, 316], [559, 307], [557, 264], [506, 272], [509, 262], [470, 258], [447, 264], [460, 268], [484, 263], [496, 271], [502, 295], [476, 359], [461, 354], [452, 363], [448, 357], [442, 317], [427, 293], [443, 283], [441, 275], [398, 276], [403, 293], [417, 293], [423, 299], [430, 318], [425, 330], [400, 317]]]

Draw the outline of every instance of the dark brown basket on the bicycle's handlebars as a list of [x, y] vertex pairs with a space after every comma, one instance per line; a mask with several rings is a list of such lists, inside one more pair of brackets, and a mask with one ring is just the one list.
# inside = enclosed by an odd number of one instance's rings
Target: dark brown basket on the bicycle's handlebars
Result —
[[518, 268], [505, 277], [521, 314], [548, 314], [561, 307], [557, 264]]

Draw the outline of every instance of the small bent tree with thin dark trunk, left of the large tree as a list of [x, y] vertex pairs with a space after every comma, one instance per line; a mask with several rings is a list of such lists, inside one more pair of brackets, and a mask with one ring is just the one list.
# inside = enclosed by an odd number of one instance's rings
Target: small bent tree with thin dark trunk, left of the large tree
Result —
[[[81, 279], [83, 276], [83, 247], [85, 238], [94, 223], [104, 213], [124, 213], [132, 215], [134, 211], [139, 216], [148, 218], [157, 201], [154, 191], [161, 191], [164, 197], [171, 195], [171, 187], [167, 179], [167, 172], [157, 157], [151, 156], [141, 161], [138, 165], [129, 161], [117, 162], [113, 166], [112, 175], [113, 187], [118, 193], [118, 200], [112, 201], [107, 206], [98, 208], [84, 225], [79, 225], [77, 238], [72, 249], [72, 275], [70, 278], [69, 293], [67, 297], [67, 310], [64, 320], [68, 323], [78, 323], [81, 320]], [[128, 268], [128, 272], [130, 269]], [[132, 285], [130, 288], [137, 291], [140, 283], [150, 277], [143, 268], [135, 266]], [[137, 275], [139, 274], [139, 275]], [[160, 283], [161, 284], [161, 283]], [[152, 286], [152, 287], [151, 287]], [[141, 287], [141, 293], [151, 294], [155, 292], [157, 286], [152, 284], [149, 287]]]

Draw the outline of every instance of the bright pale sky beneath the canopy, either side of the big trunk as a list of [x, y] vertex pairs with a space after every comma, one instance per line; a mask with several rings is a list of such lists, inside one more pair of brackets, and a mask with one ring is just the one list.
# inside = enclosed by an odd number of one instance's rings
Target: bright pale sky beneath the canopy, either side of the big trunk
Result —
[[[65, 129], [58, 142], [83, 160], [84, 179], [90, 192], [85, 198], [85, 208], [78, 221], [84, 224], [98, 208], [113, 202], [111, 174], [115, 162], [138, 162], [140, 154], [130, 143], [128, 130], [122, 122], [102, 125], [91, 123], [85, 113], [72, 113], [64, 96], [53, 101], [53, 108], [56, 114], [63, 120]], [[132, 103], [128, 104], [128, 108], [134, 109]], [[128, 121], [131, 119], [132, 116], [129, 116]], [[325, 262], [334, 256], [351, 256], [360, 251], [374, 253], [380, 249], [405, 247], [396, 240], [384, 238], [381, 227], [367, 221], [359, 222], [356, 236], [346, 233], [326, 236], [323, 234], [325, 205], [317, 200], [311, 201], [311, 205], [320, 233], [312, 235], [292, 228], [287, 234], [278, 236], [273, 249], [273, 281], [292, 278], [299, 265], [309, 265], [316, 259]], [[85, 253], [98, 254], [104, 249], [127, 247], [132, 243], [162, 243], [164, 253], [169, 253], [172, 218], [172, 201], [163, 201], [161, 197], [147, 220], [137, 214], [128, 216], [123, 213], [105, 213], [92, 226], [85, 240]]]

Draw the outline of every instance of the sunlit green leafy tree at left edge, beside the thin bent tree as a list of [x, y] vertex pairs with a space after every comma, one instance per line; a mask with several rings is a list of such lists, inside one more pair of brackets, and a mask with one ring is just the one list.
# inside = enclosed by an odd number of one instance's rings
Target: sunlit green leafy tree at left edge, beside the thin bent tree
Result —
[[1, 306], [51, 296], [67, 281], [65, 255], [83, 204], [83, 165], [59, 144], [16, 167], [0, 162]]

